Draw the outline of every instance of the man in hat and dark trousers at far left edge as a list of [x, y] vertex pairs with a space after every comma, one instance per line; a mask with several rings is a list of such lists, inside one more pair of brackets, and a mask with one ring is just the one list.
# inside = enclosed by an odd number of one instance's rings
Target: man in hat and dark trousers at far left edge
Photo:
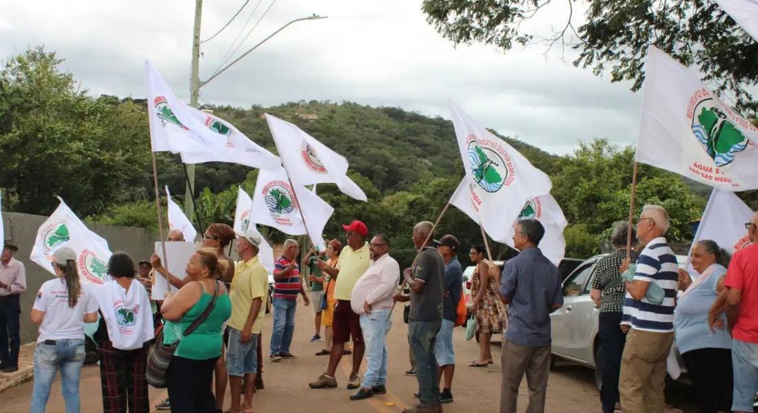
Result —
[[18, 370], [20, 348], [20, 295], [27, 290], [27, 271], [13, 258], [18, 246], [5, 240], [0, 255], [0, 368], [5, 373]]

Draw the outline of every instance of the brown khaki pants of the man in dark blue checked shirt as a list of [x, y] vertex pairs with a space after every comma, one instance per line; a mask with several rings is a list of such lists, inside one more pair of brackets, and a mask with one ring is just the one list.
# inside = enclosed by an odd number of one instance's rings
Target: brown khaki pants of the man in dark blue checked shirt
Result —
[[503, 379], [500, 381], [500, 413], [515, 413], [518, 386], [524, 374], [529, 388], [527, 413], [545, 411], [547, 377], [550, 375], [550, 346], [518, 346], [503, 342]]

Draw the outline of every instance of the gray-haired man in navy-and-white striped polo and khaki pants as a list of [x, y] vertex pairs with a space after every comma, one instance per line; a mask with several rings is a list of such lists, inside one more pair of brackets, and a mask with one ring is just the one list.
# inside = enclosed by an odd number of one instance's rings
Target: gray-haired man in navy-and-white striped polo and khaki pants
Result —
[[[658, 205], [645, 205], [637, 220], [637, 239], [645, 249], [637, 258], [634, 280], [626, 282], [623, 323], [631, 329], [622, 355], [619, 392], [627, 412], [662, 413], [666, 407], [666, 357], [674, 340], [674, 306], [678, 279], [676, 255], [663, 235], [669, 214]], [[628, 268], [628, 259], [619, 271]], [[663, 289], [660, 305], [647, 301], [650, 284]]]

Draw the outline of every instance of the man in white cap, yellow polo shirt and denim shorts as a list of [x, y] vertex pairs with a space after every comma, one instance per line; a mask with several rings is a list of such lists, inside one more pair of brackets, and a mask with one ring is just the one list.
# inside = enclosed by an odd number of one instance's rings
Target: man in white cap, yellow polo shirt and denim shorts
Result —
[[[263, 305], [268, 290], [268, 275], [258, 260], [261, 236], [252, 232], [236, 232], [235, 249], [240, 255], [229, 293], [232, 315], [229, 318], [227, 371], [232, 393], [231, 411], [252, 411], [255, 392], [255, 373], [258, 371], [258, 336], [265, 311]], [[242, 402], [243, 379], [245, 400]]]

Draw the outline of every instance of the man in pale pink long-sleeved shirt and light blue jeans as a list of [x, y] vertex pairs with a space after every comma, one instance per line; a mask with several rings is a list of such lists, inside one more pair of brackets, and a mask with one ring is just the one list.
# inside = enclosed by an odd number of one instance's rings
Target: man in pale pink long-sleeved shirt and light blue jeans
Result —
[[387, 393], [387, 332], [393, 295], [399, 284], [400, 266], [390, 257], [390, 240], [377, 234], [369, 244], [374, 261], [352, 288], [350, 306], [360, 315], [366, 346], [366, 374], [359, 390], [350, 400]]

